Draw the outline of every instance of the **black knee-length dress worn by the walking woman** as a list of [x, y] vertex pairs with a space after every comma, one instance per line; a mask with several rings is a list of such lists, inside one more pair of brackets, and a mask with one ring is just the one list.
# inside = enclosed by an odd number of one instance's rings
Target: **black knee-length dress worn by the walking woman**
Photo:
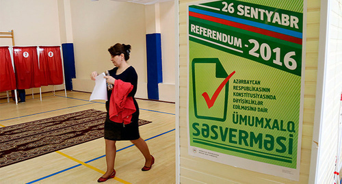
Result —
[[106, 140], [137, 140], [139, 135], [139, 129], [137, 121], [139, 120], [139, 107], [137, 106], [137, 101], [135, 101], [134, 95], [137, 92], [137, 73], [133, 66], [129, 66], [126, 70], [124, 70], [119, 75], [116, 75], [116, 70], [118, 67], [109, 70], [109, 75], [114, 77], [114, 79], [120, 79], [124, 82], [129, 82], [133, 85], [133, 90], [129, 93], [128, 96], [133, 97], [134, 105], [135, 105], [135, 113], [132, 114], [131, 123], [123, 124], [122, 122], [113, 122], [109, 120], [109, 103], [111, 90], [108, 90], [108, 101], [106, 102], [107, 109], [107, 118], [105, 120], [105, 139]]

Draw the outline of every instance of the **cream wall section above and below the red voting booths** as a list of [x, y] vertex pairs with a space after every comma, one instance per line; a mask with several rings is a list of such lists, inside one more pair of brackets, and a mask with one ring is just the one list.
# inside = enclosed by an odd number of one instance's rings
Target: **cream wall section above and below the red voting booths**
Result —
[[[16, 46], [60, 45], [57, 0], [0, 0], [0, 31], [11, 29]], [[0, 38], [0, 45], [12, 46], [12, 40]], [[52, 89], [43, 86], [42, 92]], [[64, 87], [56, 86], [56, 90], [60, 89]], [[39, 92], [39, 88], [34, 88], [34, 92]]]

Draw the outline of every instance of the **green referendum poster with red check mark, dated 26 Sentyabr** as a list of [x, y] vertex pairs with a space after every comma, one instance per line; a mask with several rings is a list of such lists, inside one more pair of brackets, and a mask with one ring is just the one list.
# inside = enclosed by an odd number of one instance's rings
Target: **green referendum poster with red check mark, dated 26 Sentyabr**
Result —
[[187, 8], [189, 155], [298, 181], [303, 0]]

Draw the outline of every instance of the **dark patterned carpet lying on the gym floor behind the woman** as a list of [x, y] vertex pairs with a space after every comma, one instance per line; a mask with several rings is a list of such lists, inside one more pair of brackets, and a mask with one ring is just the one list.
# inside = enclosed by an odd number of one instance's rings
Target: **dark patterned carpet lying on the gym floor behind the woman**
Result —
[[[103, 137], [106, 112], [78, 111], [0, 129], [0, 168]], [[148, 124], [139, 120], [139, 125]]]

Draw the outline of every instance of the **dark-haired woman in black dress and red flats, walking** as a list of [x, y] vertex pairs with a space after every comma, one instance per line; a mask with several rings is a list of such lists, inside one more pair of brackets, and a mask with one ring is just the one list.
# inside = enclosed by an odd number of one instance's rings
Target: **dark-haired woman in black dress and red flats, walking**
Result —
[[[117, 87], [115, 86], [116, 80], [130, 83], [133, 86], [133, 89], [129, 92], [128, 96], [133, 98], [135, 112], [132, 114], [131, 122], [129, 124], [112, 121], [111, 118], [109, 118], [109, 104], [114, 103], [111, 102], [111, 93], [113, 90], [108, 90], [108, 101], [106, 102], [107, 118], [105, 120], [105, 153], [107, 171], [98, 179], [98, 182], [112, 179], [116, 174], [116, 171], [114, 170], [114, 161], [116, 157], [116, 141], [118, 140], [130, 140], [135, 146], [137, 146], [142, 155], [144, 155], [145, 165], [142, 168], [142, 171], [150, 170], [151, 166], [155, 162], [154, 157], [150, 155], [146, 142], [139, 135], [137, 124], [139, 119], [139, 107], [137, 106], [137, 101], [135, 101], [134, 98], [135, 92], [137, 91], [137, 73], [133, 66], [127, 64], [129, 53], [131, 52], [131, 45], [117, 43], [110, 47], [108, 51], [111, 54], [111, 62], [113, 62], [116, 67], [108, 71], [109, 74], [105, 76], [105, 79], [109, 85], [114, 87]], [[90, 74], [90, 78], [95, 80], [97, 75], [98, 73], [93, 72]], [[115, 89], [116, 88], [114, 88], [114, 90]]]

